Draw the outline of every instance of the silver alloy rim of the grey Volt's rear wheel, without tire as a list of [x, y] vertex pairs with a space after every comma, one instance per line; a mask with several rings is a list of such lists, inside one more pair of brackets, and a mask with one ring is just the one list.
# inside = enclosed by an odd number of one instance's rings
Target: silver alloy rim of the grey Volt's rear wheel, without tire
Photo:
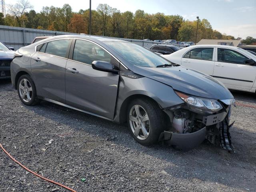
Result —
[[24, 102], [30, 102], [32, 98], [32, 86], [27, 79], [22, 79], [19, 84], [20, 97]]

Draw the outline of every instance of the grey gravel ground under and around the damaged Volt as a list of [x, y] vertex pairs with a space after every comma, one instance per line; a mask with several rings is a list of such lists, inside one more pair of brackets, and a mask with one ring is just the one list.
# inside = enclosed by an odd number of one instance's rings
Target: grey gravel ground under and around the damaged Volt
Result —
[[[233, 94], [256, 105], [255, 94]], [[180, 152], [141, 146], [123, 124], [56, 104], [25, 106], [9, 80], [0, 82], [0, 143], [31, 170], [79, 192], [256, 191], [255, 114], [255, 108], [233, 108], [235, 154], [207, 142]], [[26, 172], [0, 149], [2, 191], [67, 190]]]

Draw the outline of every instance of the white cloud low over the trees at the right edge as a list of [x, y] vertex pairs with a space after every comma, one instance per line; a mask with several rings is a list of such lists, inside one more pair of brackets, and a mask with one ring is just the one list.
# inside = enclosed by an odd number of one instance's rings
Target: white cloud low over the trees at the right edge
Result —
[[245, 39], [247, 36], [256, 38], [256, 24], [245, 24], [237, 26], [226, 26], [222, 28], [216, 28], [219, 32], [232, 35], [235, 38], [238, 36]]

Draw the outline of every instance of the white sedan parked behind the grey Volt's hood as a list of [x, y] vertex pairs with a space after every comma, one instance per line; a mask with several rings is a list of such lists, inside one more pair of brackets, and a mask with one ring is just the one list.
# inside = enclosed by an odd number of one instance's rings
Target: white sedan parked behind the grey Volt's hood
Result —
[[162, 57], [208, 74], [229, 89], [256, 92], [256, 56], [242, 48], [193, 45]]

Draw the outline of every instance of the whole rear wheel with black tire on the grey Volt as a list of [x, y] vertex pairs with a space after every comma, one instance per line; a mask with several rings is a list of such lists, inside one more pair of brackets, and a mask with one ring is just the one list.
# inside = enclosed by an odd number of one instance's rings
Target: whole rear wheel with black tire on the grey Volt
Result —
[[20, 100], [25, 105], [33, 106], [40, 102], [36, 95], [36, 86], [29, 75], [20, 76], [17, 90]]

